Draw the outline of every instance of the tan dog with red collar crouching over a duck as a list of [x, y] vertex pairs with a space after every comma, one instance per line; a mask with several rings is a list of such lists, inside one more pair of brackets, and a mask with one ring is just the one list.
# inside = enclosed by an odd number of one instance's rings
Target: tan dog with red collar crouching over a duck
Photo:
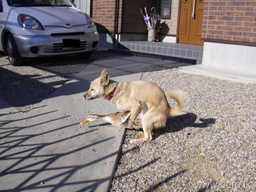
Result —
[[84, 94], [85, 99], [103, 97], [111, 100], [120, 111], [131, 111], [132, 122], [141, 111], [140, 102], [145, 102], [148, 111], [141, 120], [144, 136], [132, 140], [151, 141], [152, 131], [166, 125], [169, 116], [184, 115], [188, 113], [189, 100], [181, 90], [170, 90], [167, 95], [178, 104], [171, 107], [166, 99], [163, 90], [152, 81], [116, 82], [110, 79], [108, 70], [102, 70], [100, 76], [92, 81], [88, 92]]

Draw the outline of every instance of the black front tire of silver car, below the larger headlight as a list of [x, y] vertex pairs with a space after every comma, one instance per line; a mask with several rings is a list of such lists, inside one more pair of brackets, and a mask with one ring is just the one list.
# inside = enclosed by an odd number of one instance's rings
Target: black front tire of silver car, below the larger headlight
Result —
[[11, 65], [17, 66], [22, 64], [22, 57], [19, 54], [17, 45], [11, 34], [9, 34], [6, 39], [6, 50], [7, 50], [8, 60]]

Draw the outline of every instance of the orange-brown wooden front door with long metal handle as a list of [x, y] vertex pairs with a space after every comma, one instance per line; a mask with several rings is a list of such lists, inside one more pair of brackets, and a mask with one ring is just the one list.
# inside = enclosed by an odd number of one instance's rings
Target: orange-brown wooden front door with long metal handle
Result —
[[203, 45], [201, 40], [204, 0], [180, 0], [178, 42]]

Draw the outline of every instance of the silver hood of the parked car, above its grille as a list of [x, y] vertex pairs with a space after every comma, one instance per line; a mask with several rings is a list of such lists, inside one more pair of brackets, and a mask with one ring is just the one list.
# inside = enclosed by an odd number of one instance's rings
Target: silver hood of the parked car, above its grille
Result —
[[13, 9], [20, 14], [35, 17], [43, 26], [71, 28], [72, 26], [87, 24], [84, 13], [74, 7], [40, 6]]

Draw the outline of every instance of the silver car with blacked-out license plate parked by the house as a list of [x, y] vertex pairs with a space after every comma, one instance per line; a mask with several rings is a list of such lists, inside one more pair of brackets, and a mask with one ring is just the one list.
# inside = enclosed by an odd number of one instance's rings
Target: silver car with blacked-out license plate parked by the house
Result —
[[61, 54], [88, 58], [99, 45], [92, 18], [68, 0], [0, 0], [0, 20], [0, 51], [12, 65]]

